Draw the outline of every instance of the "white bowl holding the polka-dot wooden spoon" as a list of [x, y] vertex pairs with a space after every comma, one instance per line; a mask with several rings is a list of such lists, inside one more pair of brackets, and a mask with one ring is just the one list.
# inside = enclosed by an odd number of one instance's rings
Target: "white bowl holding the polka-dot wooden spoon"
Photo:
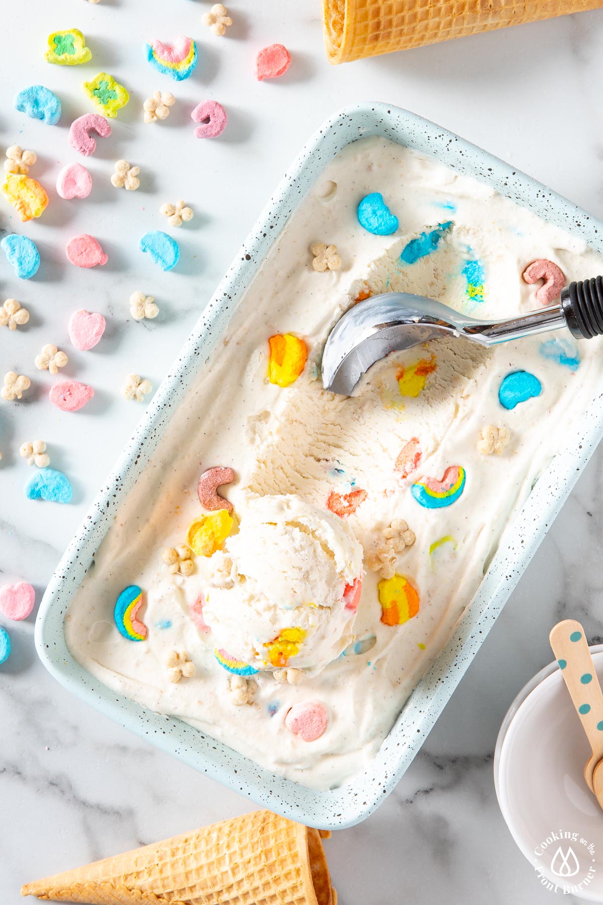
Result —
[[[590, 648], [603, 683], [603, 644]], [[603, 902], [603, 810], [584, 781], [589, 742], [556, 662], [520, 691], [495, 748], [498, 804], [534, 883]], [[535, 887], [534, 887], [535, 888]]]

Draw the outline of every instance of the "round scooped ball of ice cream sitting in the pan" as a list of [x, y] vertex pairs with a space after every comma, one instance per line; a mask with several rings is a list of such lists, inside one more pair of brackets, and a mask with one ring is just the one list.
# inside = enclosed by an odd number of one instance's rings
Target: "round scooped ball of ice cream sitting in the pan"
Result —
[[295, 495], [250, 500], [208, 565], [203, 618], [236, 660], [314, 674], [352, 642], [363, 548], [331, 512]]

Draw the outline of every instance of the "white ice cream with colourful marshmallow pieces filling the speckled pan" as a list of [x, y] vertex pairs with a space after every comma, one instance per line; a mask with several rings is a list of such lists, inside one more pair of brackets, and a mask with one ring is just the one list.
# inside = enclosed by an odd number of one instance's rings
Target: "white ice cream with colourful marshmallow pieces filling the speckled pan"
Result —
[[[372, 193], [399, 220], [391, 235], [358, 221]], [[315, 243], [336, 245], [340, 270], [313, 269]], [[119, 507], [66, 616], [74, 657], [306, 786], [362, 771], [582, 419], [603, 355], [568, 330], [491, 349], [443, 338], [393, 352], [345, 398], [322, 386], [325, 340], [377, 292], [478, 319], [538, 308], [522, 274], [542, 258], [568, 283], [603, 271], [579, 237], [436, 160], [385, 138], [344, 148]], [[210, 466], [234, 472], [220, 488], [228, 518], [197, 496]], [[180, 571], [179, 545], [208, 519], [228, 536]], [[129, 586], [147, 628], [138, 643], [113, 616]], [[176, 682], [174, 652], [195, 667]]]

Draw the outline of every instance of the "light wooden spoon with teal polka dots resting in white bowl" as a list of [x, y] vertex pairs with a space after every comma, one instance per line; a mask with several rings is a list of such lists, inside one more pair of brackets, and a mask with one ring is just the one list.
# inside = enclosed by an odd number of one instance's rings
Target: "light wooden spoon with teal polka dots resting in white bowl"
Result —
[[603, 807], [603, 692], [590, 656], [584, 629], [575, 619], [564, 619], [549, 635], [561, 675], [589, 739], [592, 755], [584, 778]]

